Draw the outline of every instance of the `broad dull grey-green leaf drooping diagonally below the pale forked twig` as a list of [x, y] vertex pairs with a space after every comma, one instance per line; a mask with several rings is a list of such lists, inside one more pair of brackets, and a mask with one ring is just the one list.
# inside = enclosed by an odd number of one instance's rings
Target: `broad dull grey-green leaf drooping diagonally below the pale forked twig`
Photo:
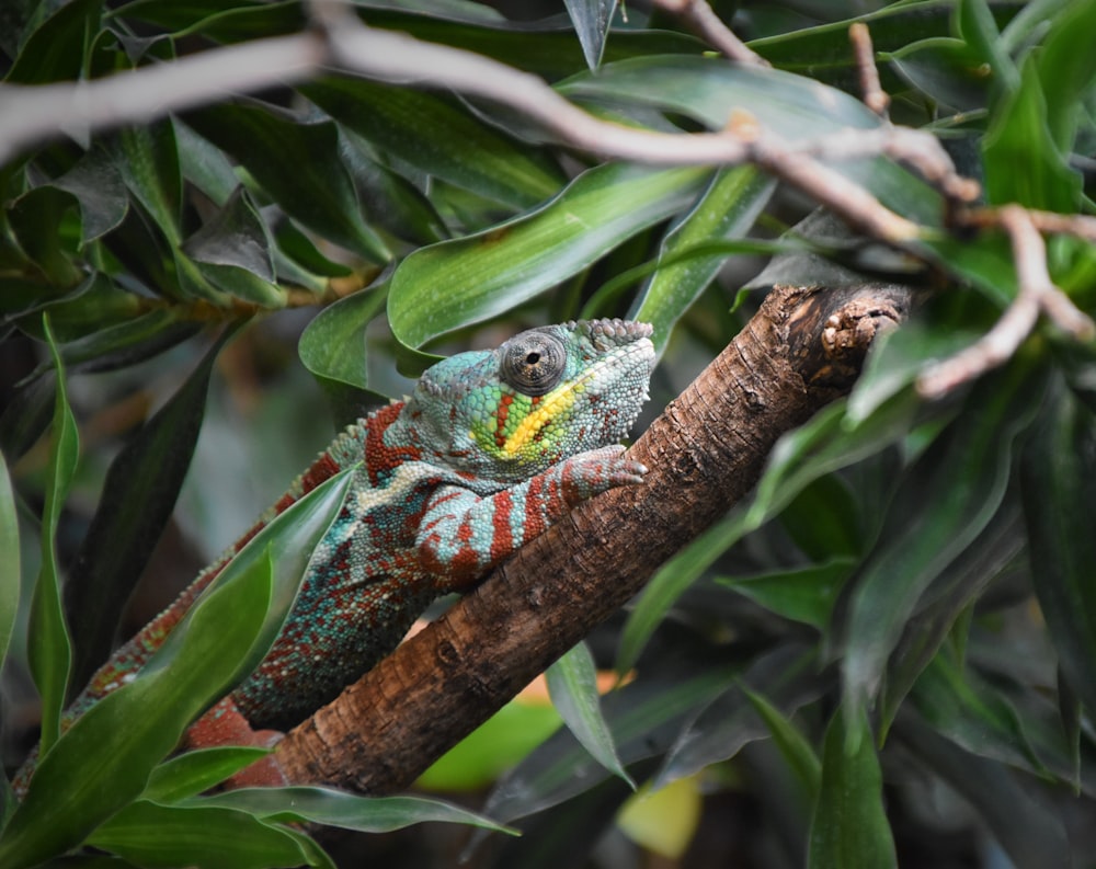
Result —
[[843, 662], [849, 704], [875, 696], [922, 594], [996, 513], [1013, 442], [1035, 415], [1041, 386], [1026, 364], [983, 379], [949, 435], [906, 472], [849, 602]]

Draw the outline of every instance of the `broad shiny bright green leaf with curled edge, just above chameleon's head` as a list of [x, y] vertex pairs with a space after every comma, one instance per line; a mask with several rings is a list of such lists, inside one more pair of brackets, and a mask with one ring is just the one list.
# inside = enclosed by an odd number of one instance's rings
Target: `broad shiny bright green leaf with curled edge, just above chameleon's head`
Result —
[[532, 214], [420, 248], [392, 276], [392, 332], [419, 347], [533, 298], [682, 208], [708, 174], [693, 168], [600, 165]]

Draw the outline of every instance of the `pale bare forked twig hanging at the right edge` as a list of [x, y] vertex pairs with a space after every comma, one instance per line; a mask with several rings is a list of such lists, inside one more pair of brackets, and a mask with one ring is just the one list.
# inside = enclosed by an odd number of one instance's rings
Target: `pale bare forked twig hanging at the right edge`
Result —
[[1027, 209], [1006, 205], [996, 215], [1013, 248], [1018, 281], [1016, 298], [981, 339], [917, 379], [917, 391], [925, 398], [940, 398], [1005, 363], [1031, 334], [1040, 313], [1080, 341], [1096, 335], [1096, 324], [1051, 281], [1047, 247]]

